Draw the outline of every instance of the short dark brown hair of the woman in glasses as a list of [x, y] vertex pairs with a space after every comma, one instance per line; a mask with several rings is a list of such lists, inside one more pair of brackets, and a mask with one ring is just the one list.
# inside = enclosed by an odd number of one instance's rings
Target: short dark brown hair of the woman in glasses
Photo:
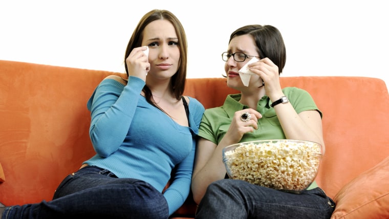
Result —
[[286, 48], [284, 39], [279, 30], [270, 25], [247, 25], [232, 32], [228, 43], [235, 36], [245, 34], [250, 34], [254, 37], [260, 58], [268, 57], [277, 65], [278, 74], [281, 74], [286, 62]]

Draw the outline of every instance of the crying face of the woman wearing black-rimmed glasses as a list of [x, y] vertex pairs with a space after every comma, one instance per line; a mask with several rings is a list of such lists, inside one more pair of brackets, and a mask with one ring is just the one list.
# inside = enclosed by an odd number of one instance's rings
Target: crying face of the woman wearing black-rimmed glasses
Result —
[[[249, 35], [235, 36], [231, 39], [228, 45], [228, 52], [233, 54], [236, 52], [241, 52], [250, 56], [260, 56], [256, 51], [256, 45], [254, 38]], [[224, 64], [224, 70], [227, 75], [227, 85], [236, 90], [247, 89], [243, 85], [241, 77], [239, 76], [238, 71], [245, 65], [252, 57], [246, 57], [246, 60], [243, 62], [237, 62], [231, 56], [228, 61]], [[262, 80], [258, 75], [251, 75], [250, 83], [248, 87], [259, 87], [262, 85]]]

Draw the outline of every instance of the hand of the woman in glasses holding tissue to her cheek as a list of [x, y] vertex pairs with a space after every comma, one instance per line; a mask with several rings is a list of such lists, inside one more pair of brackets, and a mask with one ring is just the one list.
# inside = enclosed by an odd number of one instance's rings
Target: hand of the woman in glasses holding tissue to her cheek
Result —
[[278, 67], [269, 58], [263, 58], [249, 65], [250, 71], [262, 78], [265, 83], [266, 95], [270, 99], [283, 96], [279, 83]]

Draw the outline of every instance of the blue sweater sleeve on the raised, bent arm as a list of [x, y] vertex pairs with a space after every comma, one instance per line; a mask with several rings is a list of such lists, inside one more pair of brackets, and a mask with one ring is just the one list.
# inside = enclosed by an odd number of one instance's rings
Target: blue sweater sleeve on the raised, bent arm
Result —
[[104, 79], [88, 101], [91, 111], [90, 138], [96, 153], [107, 157], [115, 152], [128, 133], [145, 82], [129, 77], [127, 85]]

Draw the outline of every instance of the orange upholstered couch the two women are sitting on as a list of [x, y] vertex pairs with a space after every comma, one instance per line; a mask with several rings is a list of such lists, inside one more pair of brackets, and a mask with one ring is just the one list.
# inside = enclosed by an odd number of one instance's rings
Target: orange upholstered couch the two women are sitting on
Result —
[[[94, 154], [86, 103], [110, 74], [119, 73], [0, 60], [0, 203], [51, 200], [61, 180]], [[385, 83], [368, 77], [280, 79], [283, 86], [307, 90], [323, 112], [326, 154], [316, 182], [337, 203], [333, 218], [387, 216]], [[206, 108], [221, 105], [229, 93], [236, 91], [225, 78], [188, 79], [185, 89]], [[189, 198], [175, 216], [193, 217], [192, 203]]]

